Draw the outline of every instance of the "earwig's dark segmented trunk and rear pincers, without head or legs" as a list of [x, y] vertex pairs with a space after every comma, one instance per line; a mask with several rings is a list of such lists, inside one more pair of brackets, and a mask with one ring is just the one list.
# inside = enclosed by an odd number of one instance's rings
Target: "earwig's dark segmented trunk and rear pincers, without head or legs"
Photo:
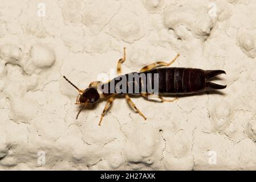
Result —
[[[208, 82], [208, 78], [225, 73], [222, 70], [209, 70], [204, 71], [196, 68], [156, 68], [150, 71], [140, 73], [128, 73], [119, 76], [103, 84], [107, 86], [107, 92], [103, 92], [105, 96], [111, 93], [117, 94], [140, 94], [140, 93], [157, 93], [159, 94], [189, 94], [204, 92], [208, 89], [224, 89], [225, 85], [218, 85]], [[129, 76], [135, 76], [137, 79], [129, 80]], [[157, 77], [156, 77], [157, 76]], [[123, 86], [119, 84], [121, 77], [125, 78]], [[139, 77], [139, 78], [138, 78]], [[144, 77], [144, 79], [143, 79]], [[113, 82], [111, 86], [111, 82]], [[115, 88], [110, 92], [110, 88]], [[150, 90], [151, 89], [151, 90]], [[122, 92], [119, 92], [123, 90]]]

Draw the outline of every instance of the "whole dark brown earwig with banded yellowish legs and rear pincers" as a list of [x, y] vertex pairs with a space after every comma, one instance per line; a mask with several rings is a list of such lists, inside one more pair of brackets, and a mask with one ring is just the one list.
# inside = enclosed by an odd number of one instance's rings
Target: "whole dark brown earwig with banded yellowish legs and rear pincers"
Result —
[[[78, 115], [80, 112], [86, 107], [88, 104], [95, 104], [97, 101], [102, 100], [104, 98], [108, 98], [107, 104], [104, 107], [104, 110], [101, 113], [99, 126], [101, 125], [101, 121], [103, 119], [104, 114], [109, 109], [109, 107], [112, 105], [112, 102], [114, 98], [117, 95], [124, 96], [124, 98], [127, 100], [128, 104], [133, 107], [137, 113], [139, 113], [145, 120], [147, 119], [143, 113], [135, 106], [135, 104], [132, 102], [129, 95], [140, 95], [145, 98], [149, 98], [151, 96], [154, 96], [158, 98], [161, 102], [173, 102], [177, 100], [178, 98], [174, 98], [173, 100], [166, 100], [162, 98], [159, 94], [192, 94], [192, 93], [200, 93], [205, 92], [208, 90], [214, 90], [214, 89], [225, 89], [226, 85], [218, 85], [214, 84], [213, 82], [210, 82], [209, 79], [220, 75], [222, 73], [225, 73], [225, 71], [222, 70], [203, 70], [203, 69], [196, 69], [196, 68], [168, 68], [169, 65], [174, 63], [174, 61], [178, 58], [177, 55], [170, 63], [165, 63], [164, 61], [157, 61], [156, 63], [149, 64], [142, 69], [140, 69], [140, 72], [134, 72], [137, 74], [137, 76], [151, 76], [151, 79], [149, 80], [141, 80], [141, 77], [139, 81], [127, 81], [125, 80], [125, 85], [127, 88], [121, 88], [120, 84], [116, 80], [119, 80], [116, 78], [113, 78], [113, 80], [108, 82], [100, 82], [100, 81], [94, 81], [91, 82], [87, 89], [80, 90], [77, 86], [72, 84], [71, 81], [69, 81], [65, 76], [63, 76], [72, 86], [78, 90], [79, 94], [76, 98], [76, 103], [79, 105], [83, 105], [81, 109], [79, 110], [78, 114], [76, 115], [76, 119], [78, 119]], [[124, 63], [126, 59], [126, 53], [124, 48], [124, 55], [123, 58], [119, 59], [117, 62], [117, 74], [121, 75], [121, 64]], [[164, 68], [160, 68], [164, 67]], [[128, 73], [123, 75], [123, 78], [128, 77], [132, 73]], [[157, 75], [157, 79], [156, 76]], [[154, 81], [153, 81], [154, 80]], [[156, 82], [155, 82], [156, 81]], [[115, 90], [114, 92], [109, 92], [109, 88], [111, 88], [111, 83], [113, 84]], [[156, 85], [158, 84], [157, 91], [159, 94], [149, 93], [148, 85]], [[124, 86], [124, 85], [123, 85]], [[122, 86], [122, 87], [123, 87]], [[138, 92], [134, 92], [136, 86], [139, 88]], [[142, 90], [141, 88], [146, 88]], [[102, 88], [108, 88], [107, 91]], [[132, 89], [131, 89], [132, 88]], [[128, 92], [128, 90], [131, 89], [133, 92]], [[120, 90], [127, 90], [127, 92], [119, 92]]]

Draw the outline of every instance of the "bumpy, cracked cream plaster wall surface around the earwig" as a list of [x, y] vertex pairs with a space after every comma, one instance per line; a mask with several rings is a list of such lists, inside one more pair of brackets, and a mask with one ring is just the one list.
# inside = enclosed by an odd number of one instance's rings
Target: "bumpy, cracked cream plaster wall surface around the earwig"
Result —
[[[0, 169], [256, 169], [256, 2], [0, 1]], [[78, 120], [76, 90], [181, 57], [224, 69], [222, 93], [174, 103], [119, 97]], [[45, 156], [45, 158], [44, 158]]]

